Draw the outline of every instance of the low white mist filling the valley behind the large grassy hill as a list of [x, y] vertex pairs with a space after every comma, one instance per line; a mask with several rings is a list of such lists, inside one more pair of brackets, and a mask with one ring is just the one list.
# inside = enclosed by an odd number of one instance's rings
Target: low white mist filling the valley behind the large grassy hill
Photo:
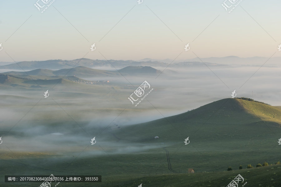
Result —
[[[163, 68], [162, 68], [163, 69]], [[211, 70], [210, 70], [211, 69]], [[1, 149], [78, 153], [89, 145], [85, 156], [142, 152], [160, 147], [156, 143], [118, 142], [107, 131], [176, 115], [223, 98], [248, 97], [280, 106], [280, 68], [269, 67], [190, 67], [167, 68], [153, 76], [93, 77], [110, 82], [75, 85], [42, 85], [0, 90]], [[259, 69], [259, 70], [258, 70]], [[109, 70], [109, 69], [108, 69]], [[172, 70], [176, 73], [168, 73]], [[258, 71], [257, 71], [258, 70]], [[144, 82], [153, 89], [137, 106], [128, 99]], [[81, 84], [79, 84], [81, 86]], [[43, 97], [49, 90], [50, 96]], [[136, 99], [137, 97], [134, 96]], [[54, 135], [52, 133], [62, 133]], [[91, 148], [90, 140], [97, 144]], [[101, 147], [100, 147], [101, 146]], [[93, 151], [94, 149], [94, 151]]]

